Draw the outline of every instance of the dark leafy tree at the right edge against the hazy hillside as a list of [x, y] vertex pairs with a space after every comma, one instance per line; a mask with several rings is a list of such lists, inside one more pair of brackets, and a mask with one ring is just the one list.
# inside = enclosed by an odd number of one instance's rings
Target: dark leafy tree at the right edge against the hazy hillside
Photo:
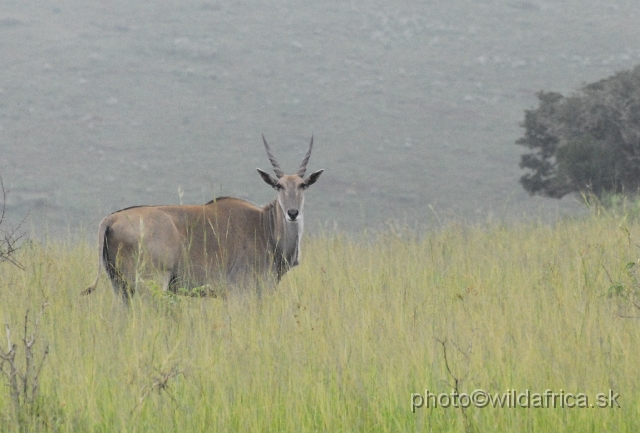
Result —
[[516, 144], [530, 153], [520, 183], [531, 195], [573, 192], [627, 195], [640, 191], [640, 66], [588, 84], [564, 97], [539, 92], [526, 110]]

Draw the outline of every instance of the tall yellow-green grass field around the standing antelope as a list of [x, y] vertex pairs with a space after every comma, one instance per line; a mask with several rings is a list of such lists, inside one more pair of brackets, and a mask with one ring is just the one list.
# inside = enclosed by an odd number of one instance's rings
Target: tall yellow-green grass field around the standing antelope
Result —
[[[26, 271], [0, 267], [0, 314], [22, 361], [25, 313], [31, 333], [48, 302], [26, 430], [635, 432], [638, 244], [640, 223], [605, 213], [326, 234], [261, 301], [150, 285], [127, 310], [104, 276], [80, 297], [93, 245], [50, 241], [20, 251]], [[621, 407], [412, 411], [414, 393], [454, 388], [584, 393], [590, 406], [612, 390]], [[18, 431], [9, 389], [0, 430]]]

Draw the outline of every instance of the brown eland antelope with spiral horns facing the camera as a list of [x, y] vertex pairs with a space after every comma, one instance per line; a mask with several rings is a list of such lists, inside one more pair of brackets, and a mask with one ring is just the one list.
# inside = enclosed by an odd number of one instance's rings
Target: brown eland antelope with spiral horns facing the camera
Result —
[[304, 177], [313, 137], [296, 174], [286, 175], [262, 136], [276, 177], [257, 169], [278, 192], [262, 207], [220, 197], [204, 205], [134, 206], [106, 216], [98, 229], [98, 276], [104, 267], [128, 301], [140, 272], [155, 271], [163, 289], [274, 287], [300, 261], [304, 192], [323, 170]]

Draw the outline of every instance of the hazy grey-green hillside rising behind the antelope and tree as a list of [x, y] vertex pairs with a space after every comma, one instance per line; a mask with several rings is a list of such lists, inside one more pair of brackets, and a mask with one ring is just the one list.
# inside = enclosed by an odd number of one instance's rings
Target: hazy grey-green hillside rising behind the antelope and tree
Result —
[[12, 222], [91, 235], [140, 204], [275, 197], [313, 134], [305, 222], [553, 219], [515, 141], [539, 90], [640, 63], [624, 0], [0, 3], [0, 174]]

